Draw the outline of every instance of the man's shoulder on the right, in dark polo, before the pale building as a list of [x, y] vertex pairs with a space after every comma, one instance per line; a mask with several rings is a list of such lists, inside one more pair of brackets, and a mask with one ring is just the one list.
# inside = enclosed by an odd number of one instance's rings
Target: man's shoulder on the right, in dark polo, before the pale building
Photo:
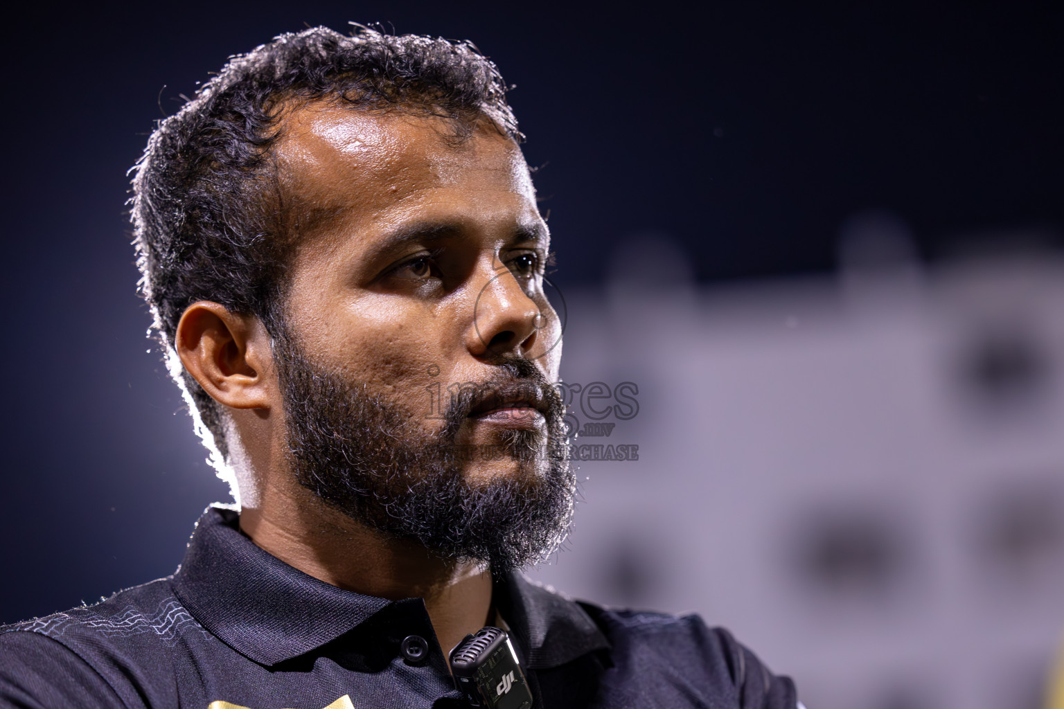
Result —
[[619, 675], [656, 677], [655, 689], [703, 697], [709, 706], [795, 709], [794, 682], [772, 674], [750, 649], [698, 615], [580, 606], [612, 645]]

